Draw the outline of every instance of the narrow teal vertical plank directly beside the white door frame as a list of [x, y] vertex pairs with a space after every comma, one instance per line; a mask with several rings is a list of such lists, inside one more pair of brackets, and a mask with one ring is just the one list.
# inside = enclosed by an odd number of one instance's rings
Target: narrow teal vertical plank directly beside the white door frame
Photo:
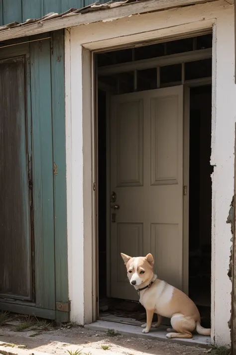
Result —
[[[64, 30], [53, 33], [51, 54], [52, 126], [54, 160], [54, 229], [56, 301], [68, 302], [67, 205]], [[56, 311], [58, 322], [69, 321], [69, 313]]]

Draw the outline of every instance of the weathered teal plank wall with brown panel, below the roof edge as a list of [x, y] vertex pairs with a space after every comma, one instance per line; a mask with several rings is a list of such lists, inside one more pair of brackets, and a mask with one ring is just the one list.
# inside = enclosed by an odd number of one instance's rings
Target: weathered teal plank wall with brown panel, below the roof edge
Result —
[[61, 34], [0, 49], [0, 309], [67, 321]]

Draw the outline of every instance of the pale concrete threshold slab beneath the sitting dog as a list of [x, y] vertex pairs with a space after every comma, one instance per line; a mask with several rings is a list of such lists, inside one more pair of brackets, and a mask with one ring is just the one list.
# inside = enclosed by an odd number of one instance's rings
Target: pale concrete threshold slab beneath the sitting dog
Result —
[[201, 348], [208, 348], [211, 345], [211, 337], [199, 334], [193, 334], [192, 339], [168, 339], [166, 338], [166, 329], [168, 328], [166, 326], [151, 328], [149, 333], [144, 334], [142, 333], [142, 328], [140, 326], [98, 320], [97, 322], [86, 324], [84, 328], [97, 332], [107, 332], [109, 329], [114, 329], [114, 331], [118, 334], [123, 334], [134, 338], [153, 339], [158, 341], [177, 343], [180, 345], [194, 347], [197, 346]]

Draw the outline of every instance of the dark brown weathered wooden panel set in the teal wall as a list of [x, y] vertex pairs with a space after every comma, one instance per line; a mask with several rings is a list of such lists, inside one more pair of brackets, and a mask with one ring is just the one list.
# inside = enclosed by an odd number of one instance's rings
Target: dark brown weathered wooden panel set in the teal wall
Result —
[[0, 295], [32, 300], [25, 88], [25, 57], [0, 61]]

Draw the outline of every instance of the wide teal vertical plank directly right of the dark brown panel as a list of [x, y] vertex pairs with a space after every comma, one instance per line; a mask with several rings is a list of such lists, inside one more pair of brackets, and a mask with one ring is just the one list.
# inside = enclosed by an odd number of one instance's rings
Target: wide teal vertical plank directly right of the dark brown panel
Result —
[[55, 309], [50, 41], [30, 43], [37, 307]]

